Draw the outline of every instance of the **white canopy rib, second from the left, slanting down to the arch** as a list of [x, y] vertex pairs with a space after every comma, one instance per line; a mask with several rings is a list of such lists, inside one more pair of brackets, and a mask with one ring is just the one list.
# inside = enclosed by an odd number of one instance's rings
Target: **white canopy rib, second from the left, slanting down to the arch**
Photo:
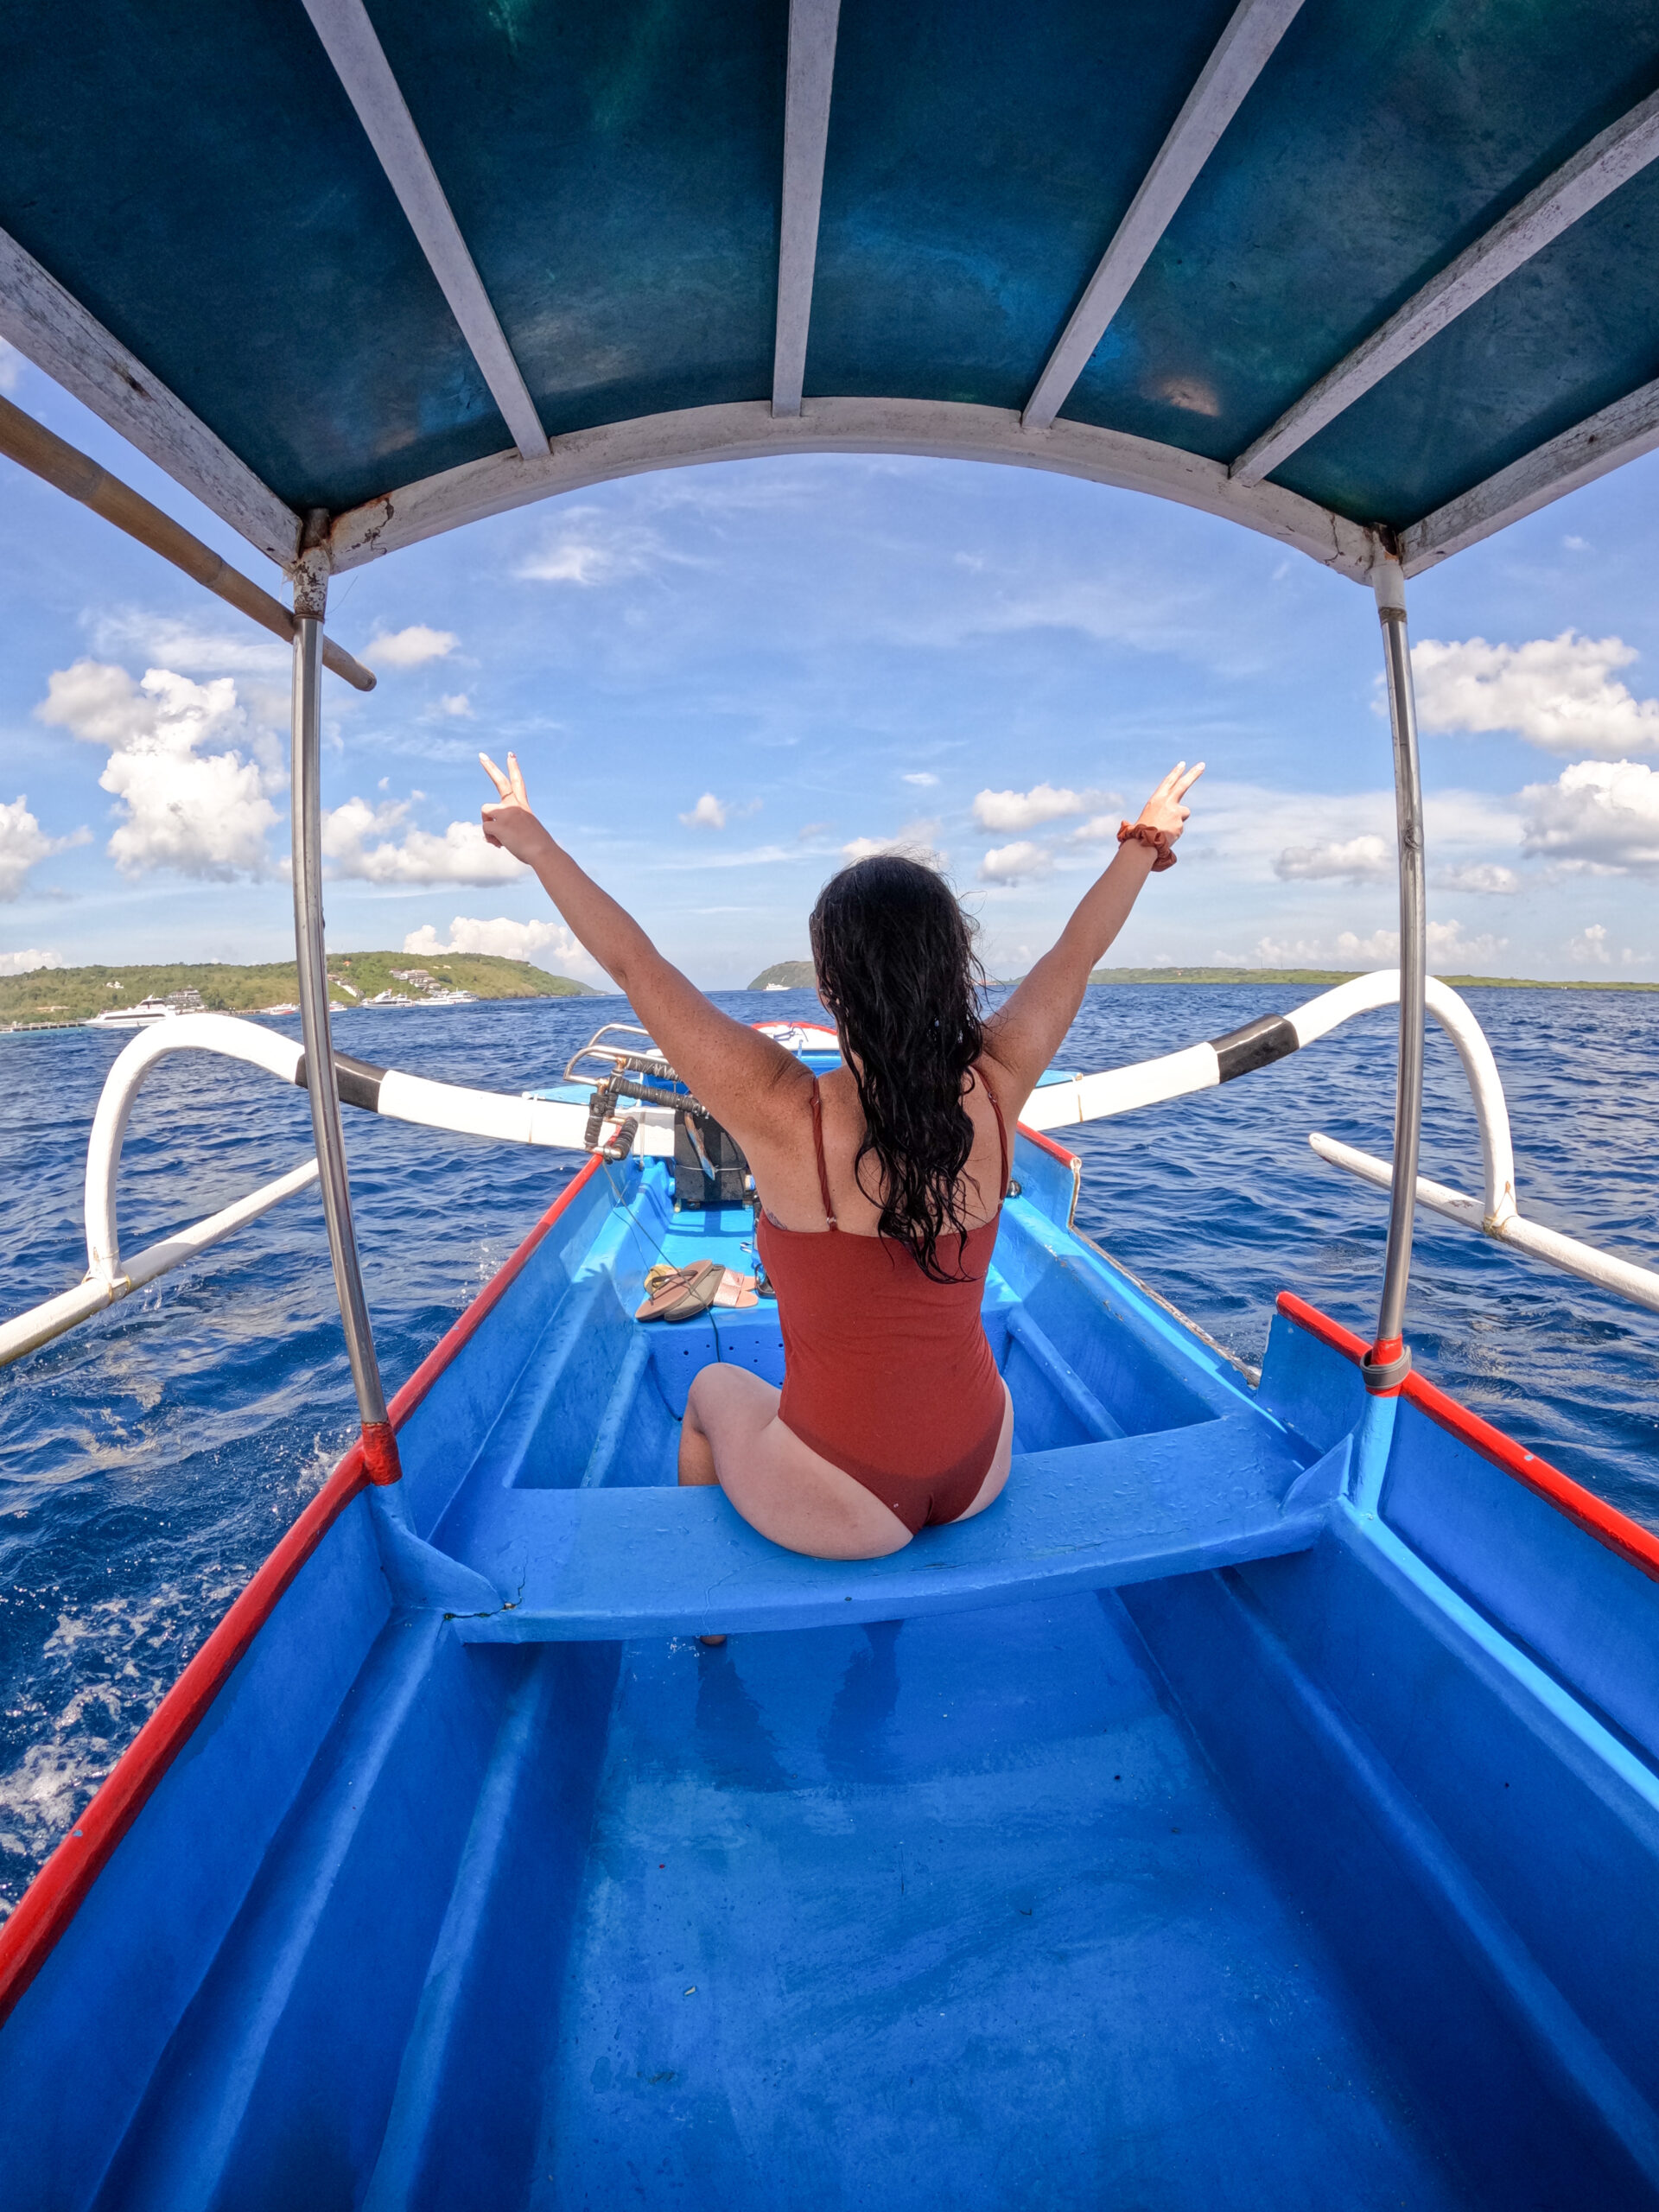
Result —
[[524, 460], [540, 460], [546, 453], [546, 431], [363, 0], [305, 0], [305, 13], [409, 217], [420, 252], [460, 323], [460, 334], [513, 442]]

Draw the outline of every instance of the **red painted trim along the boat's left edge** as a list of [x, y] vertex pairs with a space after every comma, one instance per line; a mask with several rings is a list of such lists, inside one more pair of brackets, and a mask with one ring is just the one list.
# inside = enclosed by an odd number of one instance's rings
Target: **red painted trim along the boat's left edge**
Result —
[[[403, 1427], [460, 1347], [478, 1334], [489, 1312], [522, 1274], [531, 1252], [535, 1252], [575, 1194], [593, 1181], [599, 1166], [599, 1155], [588, 1155], [582, 1172], [564, 1186], [518, 1252], [478, 1292], [453, 1329], [416, 1367], [392, 1400], [394, 1429]], [[367, 1489], [367, 1482], [363, 1444], [356, 1442], [288, 1535], [281, 1537], [265, 1564], [254, 1573], [241, 1597], [232, 1601], [226, 1617], [195, 1659], [190, 1659], [137, 1736], [133, 1736], [93, 1803], [22, 1893], [18, 1909], [0, 1924], [0, 2022], [7, 2020], [51, 1958], [53, 1944], [75, 1918], [82, 1898], [108, 1865], [122, 1836], [148, 1805], [161, 1776], [195, 1734], [201, 1717], [234, 1672], [237, 1661], [276, 1610], [283, 1590], [358, 1491]]]

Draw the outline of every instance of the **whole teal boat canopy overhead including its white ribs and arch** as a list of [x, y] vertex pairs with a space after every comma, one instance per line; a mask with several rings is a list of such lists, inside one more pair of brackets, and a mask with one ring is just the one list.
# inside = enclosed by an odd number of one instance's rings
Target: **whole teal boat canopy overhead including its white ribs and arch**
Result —
[[1659, 442], [1657, 86], [1655, 0], [69, 0], [0, 334], [285, 566], [898, 451], [1411, 573]]

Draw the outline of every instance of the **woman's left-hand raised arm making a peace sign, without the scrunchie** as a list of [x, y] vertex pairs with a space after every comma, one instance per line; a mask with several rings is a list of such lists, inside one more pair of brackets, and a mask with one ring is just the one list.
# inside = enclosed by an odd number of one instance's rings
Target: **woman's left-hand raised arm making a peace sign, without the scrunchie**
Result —
[[482, 810], [489, 843], [535, 869], [546, 896], [615, 987], [626, 993], [695, 1097], [748, 1150], [774, 1119], [776, 1086], [792, 1079], [805, 1084], [801, 1062], [781, 1044], [721, 1013], [690, 978], [664, 960], [633, 914], [602, 891], [535, 818], [511, 752], [507, 774], [489, 754], [480, 752], [478, 759], [498, 792], [498, 801]]

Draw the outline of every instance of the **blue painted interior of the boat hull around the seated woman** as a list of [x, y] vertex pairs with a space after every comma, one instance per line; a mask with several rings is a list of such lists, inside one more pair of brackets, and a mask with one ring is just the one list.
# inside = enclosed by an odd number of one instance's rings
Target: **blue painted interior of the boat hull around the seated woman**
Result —
[[690, 1374], [781, 1358], [633, 1321], [745, 1210], [588, 1175], [403, 1422], [405, 1564], [358, 1493], [0, 2033], [9, 2208], [1659, 2201], [1659, 1593], [1411, 1409], [1356, 1511], [1340, 1354], [1241, 1374], [1015, 1172], [1033, 1495], [1159, 1444], [1212, 1553], [1033, 1522], [781, 1626], [633, 1522], [611, 1597], [422, 1595], [502, 1500], [677, 1511]]

